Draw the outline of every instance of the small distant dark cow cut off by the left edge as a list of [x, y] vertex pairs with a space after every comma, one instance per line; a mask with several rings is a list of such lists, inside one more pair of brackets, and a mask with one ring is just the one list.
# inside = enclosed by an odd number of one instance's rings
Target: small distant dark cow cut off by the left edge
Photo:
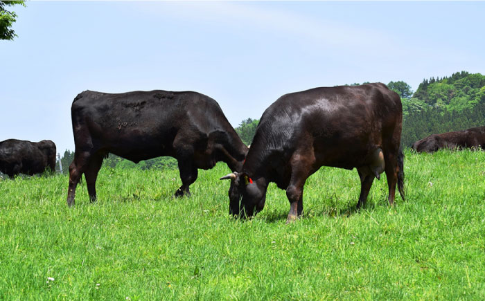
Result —
[[54, 172], [55, 154], [51, 140], [4, 140], [0, 142], [0, 172], [10, 178], [17, 174], [42, 174], [46, 169]]

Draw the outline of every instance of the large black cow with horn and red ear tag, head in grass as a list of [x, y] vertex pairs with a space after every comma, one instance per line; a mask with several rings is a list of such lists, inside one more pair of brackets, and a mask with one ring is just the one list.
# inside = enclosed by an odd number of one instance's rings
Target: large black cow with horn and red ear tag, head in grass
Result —
[[316, 88], [281, 96], [261, 117], [243, 169], [231, 179], [229, 212], [263, 210], [270, 182], [286, 190], [287, 223], [303, 214], [303, 185], [321, 166], [357, 168], [364, 205], [373, 179], [386, 172], [389, 204], [396, 183], [404, 199], [403, 108], [385, 84]]

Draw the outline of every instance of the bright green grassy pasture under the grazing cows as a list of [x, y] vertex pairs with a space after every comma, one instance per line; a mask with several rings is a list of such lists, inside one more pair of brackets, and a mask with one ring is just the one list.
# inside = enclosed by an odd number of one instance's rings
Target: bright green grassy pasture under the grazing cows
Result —
[[173, 199], [175, 170], [103, 168], [75, 208], [67, 176], [0, 180], [0, 300], [485, 299], [485, 152], [406, 152], [407, 200], [383, 176], [359, 211], [357, 172], [324, 167], [290, 225], [274, 184], [231, 219], [227, 172]]

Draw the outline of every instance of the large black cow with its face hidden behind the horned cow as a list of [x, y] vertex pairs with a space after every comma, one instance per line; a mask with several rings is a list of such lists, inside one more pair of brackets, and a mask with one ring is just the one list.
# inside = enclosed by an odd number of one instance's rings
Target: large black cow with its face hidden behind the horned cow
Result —
[[69, 206], [83, 173], [89, 197], [96, 201], [96, 177], [108, 153], [134, 163], [176, 158], [182, 179], [176, 197], [190, 194], [198, 168], [209, 170], [224, 161], [232, 171], [240, 170], [247, 154], [219, 104], [197, 92], [84, 91], [73, 101], [71, 118], [76, 150], [69, 166]]

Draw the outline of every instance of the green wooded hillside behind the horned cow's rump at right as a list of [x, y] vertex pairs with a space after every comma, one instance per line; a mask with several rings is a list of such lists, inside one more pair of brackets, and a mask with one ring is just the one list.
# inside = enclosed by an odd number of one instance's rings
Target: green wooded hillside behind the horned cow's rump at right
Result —
[[403, 99], [407, 147], [430, 134], [485, 126], [485, 76], [466, 71], [423, 80], [411, 99]]

